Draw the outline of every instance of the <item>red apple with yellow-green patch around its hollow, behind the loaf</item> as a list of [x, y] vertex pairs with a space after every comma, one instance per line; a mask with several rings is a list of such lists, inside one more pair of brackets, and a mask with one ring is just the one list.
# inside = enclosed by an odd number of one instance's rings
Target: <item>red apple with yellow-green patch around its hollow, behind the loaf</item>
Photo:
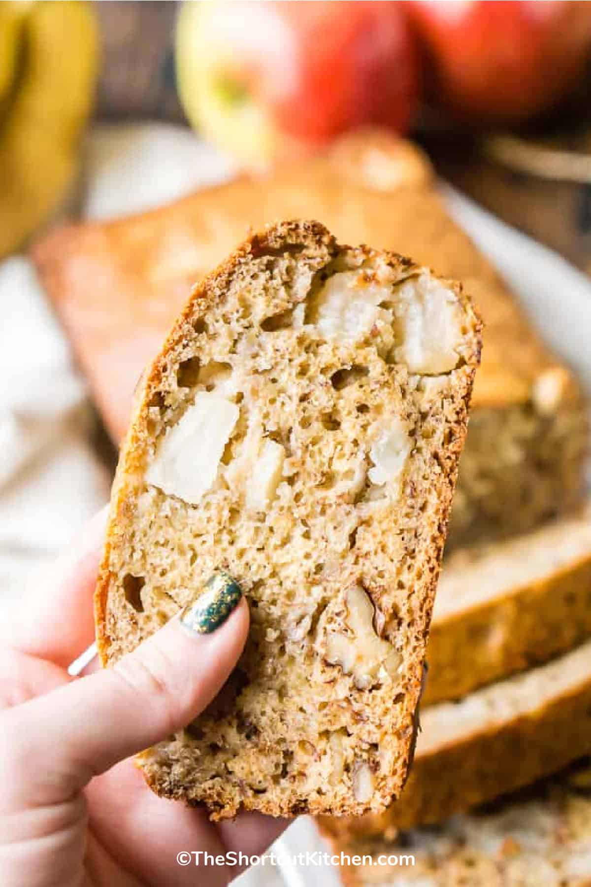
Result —
[[363, 124], [407, 130], [418, 63], [397, 3], [189, 3], [177, 31], [185, 110], [245, 161]]

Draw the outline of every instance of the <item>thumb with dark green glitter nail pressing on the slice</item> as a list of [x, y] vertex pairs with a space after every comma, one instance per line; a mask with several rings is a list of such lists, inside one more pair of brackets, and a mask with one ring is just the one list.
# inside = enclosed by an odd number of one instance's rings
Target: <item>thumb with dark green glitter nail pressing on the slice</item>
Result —
[[239, 585], [216, 573], [194, 603], [113, 668], [1, 712], [2, 805], [57, 804], [190, 723], [228, 679], [247, 632]]

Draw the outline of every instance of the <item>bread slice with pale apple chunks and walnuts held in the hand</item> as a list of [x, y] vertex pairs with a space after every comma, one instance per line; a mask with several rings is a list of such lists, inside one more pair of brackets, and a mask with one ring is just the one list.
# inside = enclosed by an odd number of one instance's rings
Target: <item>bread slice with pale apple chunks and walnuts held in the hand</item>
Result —
[[479, 350], [459, 285], [317, 223], [195, 288], [136, 396], [97, 644], [113, 663], [220, 568], [251, 632], [208, 710], [139, 757], [160, 795], [220, 819], [400, 794]]

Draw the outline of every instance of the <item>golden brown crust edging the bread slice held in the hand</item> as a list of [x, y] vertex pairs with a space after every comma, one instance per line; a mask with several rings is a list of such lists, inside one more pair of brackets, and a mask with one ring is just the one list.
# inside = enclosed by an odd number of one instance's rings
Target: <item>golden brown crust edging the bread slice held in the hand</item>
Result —
[[[207, 324], [210, 323], [212, 310], [214, 310], [215, 306], [222, 306], [224, 304], [223, 300], [226, 294], [234, 287], [237, 279], [243, 279], [245, 273], [250, 271], [251, 266], [258, 269], [259, 265], [256, 262], [260, 258], [267, 262], [268, 259], [277, 256], [278, 259], [284, 261], [284, 256], [291, 254], [292, 247], [297, 247], [294, 255], [299, 255], [300, 252], [301, 255], [306, 253], [308, 258], [310, 256], [314, 258], [315, 255], [318, 255], [318, 261], [322, 263], [321, 267], [325, 267], [327, 262], [330, 263], [330, 261], [334, 261], [337, 258], [339, 261], [344, 261], [343, 256], [349, 256], [349, 254], [350, 261], [355, 263], [353, 267], [361, 267], [362, 263], [379, 261], [387, 266], [389, 273], [393, 275], [394, 281], [408, 279], [421, 271], [409, 260], [399, 255], [378, 255], [366, 247], [359, 247], [359, 249], [355, 250], [351, 250], [350, 247], [338, 247], [334, 238], [320, 224], [291, 222], [272, 226], [264, 232], [253, 235], [241, 247], [238, 247], [229, 260], [222, 263], [216, 271], [209, 274], [206, 279], [202, 280], [194, 288], [190, 301], [168, 335], [159, 356], [155, 359], [152, 367], [144, 374], [144, 378], [136, 393], [136, 404], [128, 436], [121, 449], [120, 466], [113, 486], [105, 558], [98, 577], [95, 599], [97, 648], [103, 664], [112, 663], [120, 655], [127, 652], [129, 648], [135, 646], [139, 640], [142, 640], [147, 631], [153, 630], [153, 624], [150, 629], [146, 621], [151, 614], [144, 614], [144, 611], [141, 614], [132, 612], [121, 596], [121, 571], [128, 569], [128, 563], [125, 561], [123, 553], [126, 540], [130, 537], [135, 522], [139, 522], [139, 519], [136, 519], [134, 514], [134, 507], [137, 496], [144, 490], [142, 478], [146, 467], [147, 454], [153, 451], [152, 404], [161, 402], [167, 390], [176, 390], [176, 382], [173, 382], [173, 379], [177, 379], [178, 367], [183, 358], [186, 358], [187, 347], [191, 337], [195, 338], [196, 326], [205, 319]], [[363, 264], [363, 267], [365, 267], [365, 264]], [[257, 273], [260, 273], [260, 271], [257, 271]], [[427, 412], [429, 410], [432, 411], [433, 420], [438, 423], [438, 435], [441, 436], [441, 440], [444, 440], [445, 433], [445, 441], [447, 443], [438, 447], [438, 450], [433, 455], [432, 478], [428, 487], [429, 502], [425, 501], [424, 503], [427, 508], [424, 519], [422, 518], [424, 529], [419, 530], [417, 528], [414, 530], [416, 535], [413, 537], [413, 544], [416, 546], [417, 572], [415, 585], [409, 596], [409, 600], [412, 598], [413, 618], [412, 628], [410, 628], [410, 623], [408, 624], [409, 647], [403, 670], [405, 675], [404, 682], [400, 685], [402, 692], [399, 694], [400, 698], [395, 709], [392, 705], [392, 698], [388, 695], [386, 708], [389, 713], [387, 717], [392, 721], [392, 724], [390, 726], [382, 724], [379, 727], [382, 730], [382, 734], [380, 734], [382, 737], [381, 742], [393, 754], [394, 768], [392, 772], [379, 773], [376, 776], [378, 781], [374, 794], [372, 797], [363, 798], [337, 797], [337, 792], [334, 790], [332, 793], [323, 790], [322, 792], [311, 794], [307, 793], [307, 789], [301, 786], [298, 790], [292, 790], [287, 781], [282, 785], [281, 780], [274, 782], [273, 789], [266, 794], [252, 790], [241, 780], [235, 780], [229, 785], [230, 776], [226, 780], [228, 784], [224, 781], [221, 782], [219, 777], [216, 777], [215, 781], [211, 781], [211, 784], [204, 787], [199, 779], [192, 779], [191, 768], [187, 771], [189, 775], [186, 780], [179, 779], [178, 777], [178, 760], [184, 761], [189, 753], [188, 750], [195, 747], [198, 748], [198, 740], [191, 739], [191, 742], [189, 742], [185, 737], [184, 740], [179, 740], [176, 743], [161, 743], [157, 749], [150, 750], [140, 756], [146, 780], [160, 795], [177, 799], [183, 798], [189, 801], [189, 803], [200, 803], [203, 801], [214, 818], [222, 819], [235, 815], [241, 807], [246, 810], [259, 810], [271, 815], [282, 816], [299, 812], [359, 813], [367, 809], [384, 809], [389, 800], [399, 793], [402, 781], [406, 776], [408, 757], [412, 747], [414, 715], [421, 688], [424, 644], [431, 618], [432, 602], [440, 557], [445, 541], [447, 516], [455, 483], [457, 463], [465, 436], [470, 389], [474, 370], [478, 364], [480, 349], [480, 324], [470, 306], [469, 299], [463, 294], [463, 290], [459, 285], [446, 282], [445, 286], [453, 290], [457, 302], [462, 306], [465, 332], [463, 333], [463, 344], [460, 351], [462, 355], [460, 365], [450, 373], [445, 373], [440, 377], [441, 379], [448, 380], [445, 381], [445, 394], [439, 395], [443, 396], [443, 402], [447, 404], [448, 414], [442, 415], [439, 397], [432, 399], [432, 406], [427, 410]], [[222, 307], [219, 310], [222, 310]], [[339, 346], [339, 348], [342, 349], [342, 346]], [[394, 378], [396, 373], [402, 373], [402, 376], [410, 379], [408, 369], [405, 366], [399, 369], [397, 366], [391, 365], [388, 369], [385, 361], [377, 357], [375, 346], [366, 347], [366, 351], [367, 357], [370, 357], [370, 352], [375, 354], [375, 357], [371, 359], [375, 359], [380, 366], [385, 368], [380, 372], [385, 373], [387, 370], [392, 378]], [[351, 351], [351, 355], [354, 353], [359, 354], [362, 352], [359, 350]], [[324, 362], [328, 360], [328, 355], [328, 351], [323, 352]], [[338, 365], [343, 365], [342, 361], [344, 359], [343, 354], [341, 354], [338, 357], [340, 361]], [[346, 359], [345, 364], [347, 364]], [[419, 377], [412, 378], [417, 380]], [[441, 384], [443, 385], [444, 383], [441, 382]], [[330, 385], [329, 388], [330, 391], [333, 391], [334, 386]], [[383, 404], [388, 405], [389, 401], [386, 391], [384, 389], [380, 389], [380, 391], [382, 392], [380, 398]], [[333, 397], [334, 394], [330, 396]], [[292, 423], [294, 423], [294, 418], [292, 416]], [[420, 421], [426, 420], [423, 417]], [[418, 434], [418, 431], [416, 433]], [[439, 440], [439, 437], [437, 439]], [[424, 481], [417, 481], [417, 483], [422, 483], [424, 486]], [[417, 486], [413, 493], [413, 498], [416, 497], [420, 503], [421, 498], [427, 495], [426, 489], [425, 487], [422, 490], [420, 485]], [[413, 499], [411, 501], [414, 508]], [[378, 514], [376, 512], [376, 514], [378, 516], [372, 517], [372, 521], [376, 526], [378, 526], [380, 521], [385, 521], [386, 517], [388, 517], [388, 521], [391, 519], [388, 516], [389, 513], [384, 514], [383, 517], [379, 516], [381, 513]], [[388, 523], [388, 526], [390, 526], [390, 523]], [[403, 529], [402, 535], [405, 532], [406, 530]], [[377, 538], [385, 538], [382, 530], [375, 530], [375, 533]], [[149, 546], [149, 543], [142, 539], [141, 545]], [[236, 557], [239, 556], [241, 555], [236, 554]], [[378, 556], [378, 554], [375, 555], [376, 558]], [[369, 554], [363, 555], [363, 557], [369, 557]], [[149, 563], [147, 565], [144, 564], [144, 566], [146, 566], [149, 572]], [[240, 561], [236, 561], [234, 565], [228, 564], [228, 567], [232, 568], [230, 571], [239, 578], [241, 583], [244, 581], [247, 595], [255, 597], [257, 591], [252, 583], [252, 587], [249, 588], [248, 576], [244, 574], [244, 565], [241, 566]], [[198, 564], [191, 569], [195, 574], [199, 568], [206, 569], [206, 565], [201, 566]], [[368, 572], [369, 563], [366, 563], [364, 569]], [[147, 572], [145, 577], [147, 583]], [[195, 581], [198, 581], [198, 577]], [[328, 583], [328, 580], [324, 581]], [[338, 579], [338, 584], [346, 584], [346, 581], [348, 580], [343, 575], [342, 579]], [[184, 593], [182, 589], [179, 589], [178, 592], [179, 594]], [[384, 594], [386, 597], [388, 593], [390, 592], [385, 589]], [[386, 600], [386, 597], [384, 600]], [[376, 600], [379, 599], [374, 597], [374, 603]], [[393, 613], [391, 604], [387, 607], [384, 604], [383, 609], [385, 613], [385, 636], [388, 636], [388, 632], [400, 631], [400, 628], [396, 627], [398, 626], [398, 620], [400, 620], [398, 611]], [[395, 616], [395, 619], [393, 616]], [[403, 631], [406, 632], [406, 630], [407, 628], [404, 627]], [[249, 669], [264, 673], [264, 670], [261, 671], [264, 660], [261, 660], [260, 654], [256, 655], [256, 650], [251, 651], [248, 644], [241, 662], [241, 667], [249, 674], [251, 673], [248, 671]], [[344, 679], [345, 677], [341, 680]], [[261, 674], [259, 675], [259, 680], [261, 680]], [[347, 678], [346, 680], [350, 683], [351, 679]], [[326, 689], [326, 685], [324, 687]], [[328, 692], [328, 689], [326, 689], [326, 692]], [[333, 692], [330, 691], [330, 695]], [[375, 703], [377, 704], [382, 692], [380, 689], [375, 689], [373, 696], [366, 695], [363, 705], [370, 707], [371, 699], [377, 701]], [[328, 718], [329, 714], [326, 717]], [[219, 729], [217, 718], [214, 720], [214, 723], [217, 725], [216, 729]], [[377, 729], [377, 727], [378, 723], [372, 723], [371, 718], [368, 718], [367, 727], [363, 726], [362, 729], [367, 732], [368, 730], [374, 730], [374, 728]], [[390, 734], [388, 731], [390, 731]], [[183, 742], [185, 743], [184, 745]], [[368, 741], [364, 742], [364, 748], [370, 745]], [[249, 751], [250, 753], [251, 751]], [[366, 750], [363, 753], [367, 755], [368, 752]], [[266, 751], [262, 749], [261, 754], [270, 757], [270, 749], [268, 748]], [[175, 755], [180, 755], [181, 757], [175, 757]], [[199, 752], [199, 755], [199, 759], [206, 762], [206, 753]], [[197, 758], [195, 760], [197, 761]], [[362, 758], [360, 757], [359, 760], [362, 760]], [[233, 763], [236, 765], [236, 759], [234, 759]], [[175, 771], [175, 774], [173, 774], [173, 771]], [[351, 776], [349, 776], [350, 780]]]

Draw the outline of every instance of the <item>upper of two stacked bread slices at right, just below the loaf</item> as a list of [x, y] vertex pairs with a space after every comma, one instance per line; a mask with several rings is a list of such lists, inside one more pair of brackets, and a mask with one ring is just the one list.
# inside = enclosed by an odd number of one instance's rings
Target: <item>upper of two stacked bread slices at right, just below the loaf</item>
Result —
[[591, 636], [591, 509], [456, 549], [433, 608], [422, 704], [460, 699]]

